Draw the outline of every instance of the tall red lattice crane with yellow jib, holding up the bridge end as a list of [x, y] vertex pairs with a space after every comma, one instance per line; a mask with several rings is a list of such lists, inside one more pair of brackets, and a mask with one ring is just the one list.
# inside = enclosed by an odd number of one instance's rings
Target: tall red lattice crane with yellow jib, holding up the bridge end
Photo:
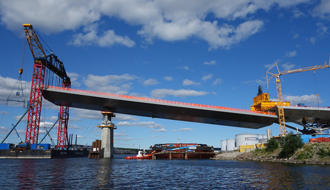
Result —
[[[50, 72], [58, 76], [58, 84], [61, 83], [62, 87], [70, 88], [71, 81], [70, 77], [66, 74], [63, 62], [59, 60], [53, 52], [48, 54], [45, 53], [44, 48], [39, 41], [38, 35], [32, 25], [23, 24], [23, 27], [27, 42], [34, 58], [30, 105], [25, 135], [25, 142], [33, 144], [38, 143], [42, 94], [45, 82], [45, 69], [47, 68], [49, 70], [49, 77]], [[60, 107], [59, 113], [57, 148], [66, 148], [68, 119], [69, 107], [63, 104]]]

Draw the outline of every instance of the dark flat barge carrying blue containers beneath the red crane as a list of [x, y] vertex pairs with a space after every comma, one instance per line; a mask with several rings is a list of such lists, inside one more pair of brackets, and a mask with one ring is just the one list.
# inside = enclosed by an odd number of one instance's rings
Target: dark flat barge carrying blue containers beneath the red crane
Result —
[[87, 150], [50, 149], [50, 144], [31, 144], [28, 148], [1, 144], [0, 159], [40, 159], [40, 158], [77, 158], [88, 157]]

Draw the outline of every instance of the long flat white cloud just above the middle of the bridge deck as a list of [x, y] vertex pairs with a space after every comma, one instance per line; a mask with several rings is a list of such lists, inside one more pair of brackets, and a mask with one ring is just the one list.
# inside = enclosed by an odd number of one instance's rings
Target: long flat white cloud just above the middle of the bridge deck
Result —
[[151, 91], [151, 96], [153, 98], [164, 98], [167, 95], [172, 95], [175, 97], [186, 97], [186, 96], [204, 96], [209, 94], [209, 92], [205, 91], [195, 91], [189, 89], [180, 89], [180, 90], [173, 90], [173, 89], [154, 89]]

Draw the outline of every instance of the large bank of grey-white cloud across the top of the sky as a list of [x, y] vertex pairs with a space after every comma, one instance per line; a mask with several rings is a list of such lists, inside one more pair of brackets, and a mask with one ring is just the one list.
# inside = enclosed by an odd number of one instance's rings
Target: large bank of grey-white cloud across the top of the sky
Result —
[[[262, 30], [265, 22], [254, 19], [258, 10], [272, 7], [290, 8], [309, 0], [295, 1], [0, 1], [1, 23], [10, 30], [20, 32], [22, 23], [34, 23], [45, 33], [65, 30], [82, 32], [74, 34], [73, 45], [98, 45], [109, 47], [121, 44], [132, 47], [135, 42], [125, 34], [116, 34], [101, 22], [101, 17], [116, 18], [136, 25], [136, 33], [144, 41], [177, 41], [196, 38], [206, 41], [211, 49], [229, 48]], [[60, 8], [54, 9], [54, 7]], [[38, 16], [35, 15], [38, 11]], [[293, 16], [303, 15], [293, 9]], [[314, 16], [329, 17], [329, 3], [321, 1], [313, 10]], [[211, 19], [206, 17], [212, 15]], [[247, 20], [246, 18], [249, 18]], [[229, 21], [222, 23], [218, 21]], [[230, 24], [231, 21], [237, 21]], [[99, 24], [98, 24], [99, 23]], [[229, 24], [228, 24], [229, 23]], [[234, 23], [234, 22], [233, 22]], [[111, 25], [110, 25], [111, 27]], [[100, 29], [102, 28], [102, 30]], [[20, 32], [21, 33], [21, 32]]]

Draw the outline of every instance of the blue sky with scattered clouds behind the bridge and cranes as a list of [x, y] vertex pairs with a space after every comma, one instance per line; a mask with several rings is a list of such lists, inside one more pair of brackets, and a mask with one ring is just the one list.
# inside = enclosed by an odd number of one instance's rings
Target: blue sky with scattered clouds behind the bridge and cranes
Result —
[[[330, 56], [326, 0], [0, 1], [0, 23], [0, 139], [25, 111], [22, 103], [6, 101], [23, 100], [16, 97], [19, 68], [26, 101], [31, 89], [34, 61], [22, 24], [32, 24], [49, 46], [45, 49], [63, 61], [71, 88], [247, 110], [259, 85], [277, 100], [274, 78], [268, 88], [266, 79], [274, 63], [286, 71], [329, 64]], [[330, 106], [329, 73], [282, 75], [283, 100]], [[58, 112], [58, 106], [43, 100], [39, 141]], [[78, 144], [101, 138], [100, 112], [70, 108], [69, 115], [68, 133], [78, 135]], [[177, 138], [220, 147], [221, 140], [236, 134], [266, 134], [266, 129], [280, 134], [278, 124], [246, 129], [122, 114], [112, 121], [114, 146], [124, 148]], [[55, 144], [57, 125], [50, 132]], [[24, 140], [26, 117], [16, 129]], [[13, 132], [5, 143], [17, 144], [17, 135]]]

